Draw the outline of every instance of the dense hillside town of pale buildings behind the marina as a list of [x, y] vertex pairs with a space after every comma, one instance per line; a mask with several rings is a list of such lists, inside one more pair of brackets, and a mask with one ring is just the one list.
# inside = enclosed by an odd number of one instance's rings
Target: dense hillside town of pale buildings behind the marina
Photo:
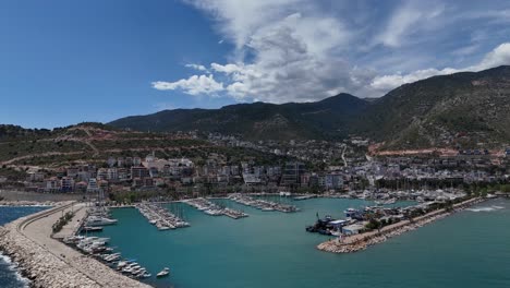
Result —
[[[364, 140], [323, 145], [291, 141], [284, 147], [277, 142], [255, 145], [232, 137], [209, 137], [209, 141], [216, 145], [286, 154], [293, 160], [263, 165], [253, 158], [234, 163], [224, 155], [211, 153], [197, 164], [186, 157], [156, 157], [153, 152], [145, 157], [111, 156], [99, 164], [80, 164], [53, 170], [31, 167], [26, 170], [26, 179], [17, 184], [23, 190], [40, 193], [171, 190], [182, 195], [233, 192], [352, 194], [364, 190], [465, 189], [473, 183], [502, 183], [509, 177], [506, 167], [510, 149], [502, 156], [474, 149], [439, 157], [371, 157], [355, 152], [360, 146], [366, 146]], [[339, 163], [320, 161], [336, 157]], [[8, 179], [1, 180], [7, 182]]]

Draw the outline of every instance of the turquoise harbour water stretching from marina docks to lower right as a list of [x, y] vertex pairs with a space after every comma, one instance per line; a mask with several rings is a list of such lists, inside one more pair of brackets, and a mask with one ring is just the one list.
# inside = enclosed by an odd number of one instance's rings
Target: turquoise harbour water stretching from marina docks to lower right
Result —
[[171, 277], [148, 280], [157, 287], [510, 287], [510, 201], [483, 203], [485, 211], [460, 212], [354, 254], [316, 250], [328, 237], [304, 228], [316, 213], [341, 217], [363, 201], [293, 202], [302, 208], [295, 214], [220, 202], [250, 217], [211, 217], [174, 203], [168, 207], [192, 226], [158, 231], [136, 209], [120, 208], [119, 224], [100, 235], [153, 275], [170, 266]]

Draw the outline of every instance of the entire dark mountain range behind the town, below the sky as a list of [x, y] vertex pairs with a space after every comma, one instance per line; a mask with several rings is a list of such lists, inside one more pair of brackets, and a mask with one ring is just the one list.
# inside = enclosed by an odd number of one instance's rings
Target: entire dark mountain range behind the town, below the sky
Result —
[[109, 125], [203, 131], [247, 140], [367, 136], [387, 148], [495, 146], [510, 142], [510, 67], [433, 76], [377, 99], [339, 94], [316, 103], [239, 104], [133, 116]]

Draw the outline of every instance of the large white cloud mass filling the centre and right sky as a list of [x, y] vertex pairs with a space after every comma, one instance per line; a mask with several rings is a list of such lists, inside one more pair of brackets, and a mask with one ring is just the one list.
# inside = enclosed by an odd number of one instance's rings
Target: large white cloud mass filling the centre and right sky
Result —
[[371, 4], [356, 10], [340, 1], [183, 1], [210, 15], [221, 39], [235, 48], [226, 62], [186, 64], [204, 75], [154, 82], [157, 89], [270, 103], [312, 101], [342, 92], [378, 97], [425, 77], [509, 63], [509, 44], [484, 56], [494, 46], [475, 37], [471, 43], [448, 43], [451, 48], [444, 55], [476, 57], [478, 63], [453, 63], [445, 57], [429, 61], [439, 53], [436, 46], [449, 41], [465, 23], [494, 29], [484, 23], [506, 15], [461, 13], [463, 2], [456, 7], [440, 0], [409, 1], [388, 4], [389, 12], [380, 13]]

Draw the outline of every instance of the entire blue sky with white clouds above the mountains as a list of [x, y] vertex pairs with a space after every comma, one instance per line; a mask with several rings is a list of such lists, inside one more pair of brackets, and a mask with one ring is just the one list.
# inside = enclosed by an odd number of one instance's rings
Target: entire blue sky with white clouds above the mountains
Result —
[[0, 37], [0, 123], [53, 128], [510, 64], [510, 2], [8, 0]]

